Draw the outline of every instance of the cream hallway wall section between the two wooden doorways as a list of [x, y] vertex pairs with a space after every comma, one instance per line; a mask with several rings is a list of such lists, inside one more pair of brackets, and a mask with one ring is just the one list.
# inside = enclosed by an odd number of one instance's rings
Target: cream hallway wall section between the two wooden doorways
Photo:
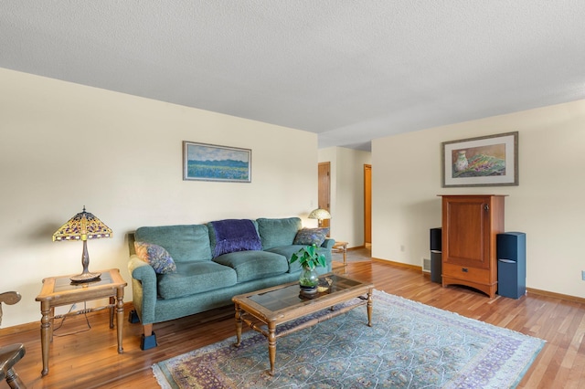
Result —
[[364, 164], [371, 152], [329, 147], [318, 151], [319, 162], [331, 163], [331, 237], [347, 247], [364, 245]]

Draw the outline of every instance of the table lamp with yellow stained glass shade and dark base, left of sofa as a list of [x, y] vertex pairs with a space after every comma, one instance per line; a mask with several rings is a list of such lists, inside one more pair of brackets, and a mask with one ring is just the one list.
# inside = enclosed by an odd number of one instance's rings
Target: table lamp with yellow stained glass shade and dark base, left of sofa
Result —
[[112, 237], [112, 228], [104, 225], [100, 219], [85, 211], [69, 219], [69, 222], [61, 226], [55, 234], [53, 241], [58, 240], [81, 240], [83, 242], [83, 253], [81, 254], [81, 265], [83, 272], [71, 277], [73, 282], [90, 282], [100, 279], [101, 273], [91, 273], [90, 255], [88, 254], [88, 239], [99, 239], [101, 237]]

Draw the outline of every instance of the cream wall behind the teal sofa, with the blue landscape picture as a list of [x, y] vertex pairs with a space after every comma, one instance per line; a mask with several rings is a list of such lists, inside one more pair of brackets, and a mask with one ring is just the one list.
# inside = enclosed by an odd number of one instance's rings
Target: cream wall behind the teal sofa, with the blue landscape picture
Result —
[[[23, 296], [3, 327], [40, 320], [41, 279], [80, 272], [80, 242], [51, 236], [83, 205], [113, 229], [88, 242], [90, 269], [120, 268], [128, 282], [125, 236], [138, 226], [261, 216], [315, 226], [311, 132], [0, 68], [0, 137], [0, 291]], [[182, 141], [251, 149], [251, 184], [183, 181]]]

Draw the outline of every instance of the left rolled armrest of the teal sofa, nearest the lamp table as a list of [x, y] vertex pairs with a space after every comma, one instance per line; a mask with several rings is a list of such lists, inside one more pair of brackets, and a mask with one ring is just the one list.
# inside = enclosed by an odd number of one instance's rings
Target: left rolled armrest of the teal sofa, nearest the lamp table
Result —
[[134, 309], [143, 325], [154, 323], [157, 296], [154, 268], [134, 254], [128, 261], [128, 270], [132, 275]]

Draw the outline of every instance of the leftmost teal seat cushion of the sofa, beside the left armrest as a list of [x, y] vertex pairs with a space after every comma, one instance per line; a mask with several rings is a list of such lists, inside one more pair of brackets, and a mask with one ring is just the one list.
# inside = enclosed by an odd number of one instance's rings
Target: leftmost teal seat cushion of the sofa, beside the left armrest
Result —
[[158, 294], [165, 300], [227, 288], [237, 283], [236, 271], [216, 262], [176, 262], [176, 272], [158, 276]]

